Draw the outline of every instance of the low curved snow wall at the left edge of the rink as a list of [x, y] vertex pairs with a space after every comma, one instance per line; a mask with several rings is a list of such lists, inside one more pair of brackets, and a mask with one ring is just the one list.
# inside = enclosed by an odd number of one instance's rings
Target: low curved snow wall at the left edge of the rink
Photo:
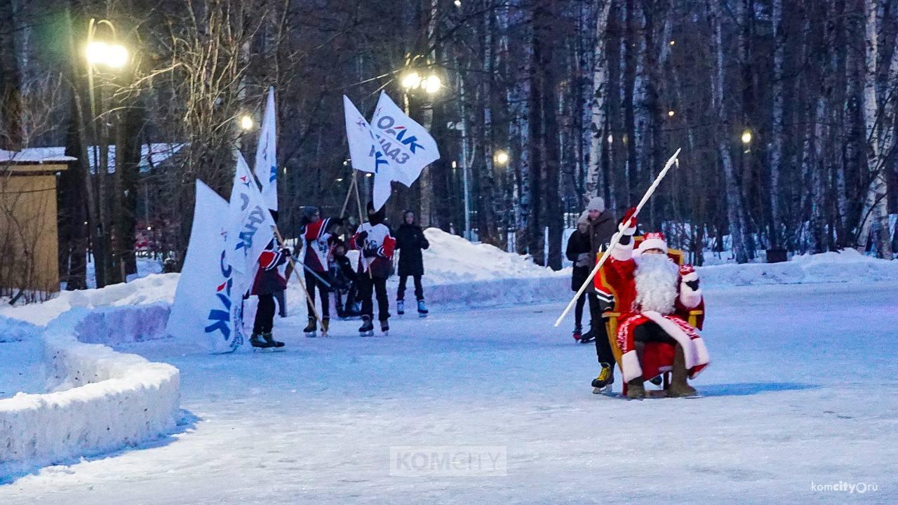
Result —
[[0, 482], [40, 466], [135, 446], [175, 428], [178, 368], [84, 343], [162, 338], [168, 310], [164, 304], [74, 308], [48, 324], [50, 393], [0, 400]]

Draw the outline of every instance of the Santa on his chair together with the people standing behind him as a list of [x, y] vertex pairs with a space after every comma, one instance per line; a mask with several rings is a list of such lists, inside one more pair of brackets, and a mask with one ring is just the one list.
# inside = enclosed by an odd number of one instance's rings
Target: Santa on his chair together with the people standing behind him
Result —
[[[665, 236], [648, 233], [637, 247], [635, 208], [621, 219], [604, 207], [604, 200], [590, 200], [577, 220], [577, 231], [568, 239], [567, 257], [574, 262], [571, 288], [578, 291], [600, 256], [612, 243], [610, 257], [600, 275], [577, 298], [574, 338], [595, 341], [601, 367], [593, 380], [595, 393], [610, 390], [614, 383], [614, 350], [606, 332], [605, 315], [617, 317], [612, 335], [620, 351], [623, 380], [628, 398], [646, 397], [644, 382], [661, 384], [661, 374], [671, 372], [668, 396], [692, 396], [696, 390], [687, 378], [699, 375], [709, 364], [704, 341], [689, 321], [691, 311], [704, 309], [699, 274], [689, 264], [682, 266], [668, 257]], [[583, 309], [588, 301], [590, 329], [583, 332]], [[611, 315], [616, 310], [616, 314]]]

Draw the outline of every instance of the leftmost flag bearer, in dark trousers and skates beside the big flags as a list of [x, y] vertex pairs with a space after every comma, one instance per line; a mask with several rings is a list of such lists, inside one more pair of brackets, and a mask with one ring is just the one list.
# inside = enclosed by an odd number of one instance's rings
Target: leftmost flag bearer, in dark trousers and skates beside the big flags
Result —
[[259, 270], [252, 283], [250, 294], [259, 297], [256, 319], [252, 324], [250, 344], [252, 347], [283, 347], [284, 342], [271, 337], [271, 327], [275, 318], [275, 297], [277, 291], [286, 289], [286, 279], [281, 277], [277, 267], [283, 265], [290, 256], [290, 250], [275, 246], [275, 241], [259, 256]]

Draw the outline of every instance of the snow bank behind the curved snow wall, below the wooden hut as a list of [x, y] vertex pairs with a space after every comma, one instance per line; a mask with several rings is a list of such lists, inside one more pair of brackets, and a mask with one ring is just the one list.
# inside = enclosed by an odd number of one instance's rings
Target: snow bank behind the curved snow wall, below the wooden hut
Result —
[[58, 297], [42, 304], [4, 306], [0, 308], [0, 316], [43, 326], [73, 307], [136, 306], [155, 302], [171, 304], [179, 277], [177, 273], [163, 273], [100, 289], [62, 291]]

